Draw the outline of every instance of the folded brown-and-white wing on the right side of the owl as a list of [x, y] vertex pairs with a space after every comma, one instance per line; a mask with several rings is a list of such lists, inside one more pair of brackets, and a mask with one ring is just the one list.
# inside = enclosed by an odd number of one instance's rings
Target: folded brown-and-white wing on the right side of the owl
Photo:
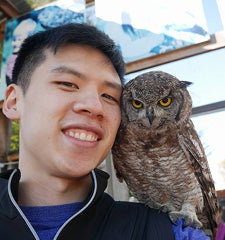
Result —
[[186, 131], [178, 135], [178, 139], [201, 186], [209, 225], [215, 232], [218, 215], [216, 190], [204, 148], [191, 121], [187, 125]]

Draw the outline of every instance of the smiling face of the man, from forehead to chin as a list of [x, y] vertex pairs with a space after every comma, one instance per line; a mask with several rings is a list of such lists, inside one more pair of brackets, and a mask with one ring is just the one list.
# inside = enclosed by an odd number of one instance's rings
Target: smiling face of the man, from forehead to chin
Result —
[[98, 50], [47, 51], [18, 105], [21, 164], [61, 177], [89, 173], [114, 142], [120, 95], [118, 74]]

